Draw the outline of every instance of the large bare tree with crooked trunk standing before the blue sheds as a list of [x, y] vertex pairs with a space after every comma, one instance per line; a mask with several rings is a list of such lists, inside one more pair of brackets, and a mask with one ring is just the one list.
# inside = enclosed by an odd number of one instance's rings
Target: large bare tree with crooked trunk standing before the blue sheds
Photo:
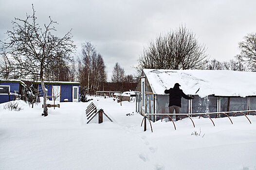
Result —
[[[40, 79], [44, 92], [44, 116], [48, 115], [46, 107], [47, 89], [44, 86], [45, 71], [51, 63], [70, 60], [70, 53], [75, 50], [71, 31], [59, 38], [53, 34], [56, 21], [49, 17], [48, 24], [41, 28], [37, 23], [36, 11], [32, 5], [32, 16], [25, 19], [15, 18], [13, 30], [7, 31], [8, 38], [2, 43], [2, 49], [8, 53], [10, 68], [20, 78]], [[2, 52], [3, 53], [3, 52]]]

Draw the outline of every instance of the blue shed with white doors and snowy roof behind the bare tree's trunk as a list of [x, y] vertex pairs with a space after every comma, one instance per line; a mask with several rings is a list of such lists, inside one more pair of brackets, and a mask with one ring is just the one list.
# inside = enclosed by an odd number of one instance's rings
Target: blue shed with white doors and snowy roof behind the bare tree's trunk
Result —
[[[40, 96], [43, 96], [43, 90], [41, 82], [36, 82], [37, 89], [40, 91]], [[59, 102], [79, 102], [79, 82], [55, 82], [46, 81], [44, 82], [45, 87], [48, 90], [47, 96], [49, 100], [53, 100], [55, 96]]]

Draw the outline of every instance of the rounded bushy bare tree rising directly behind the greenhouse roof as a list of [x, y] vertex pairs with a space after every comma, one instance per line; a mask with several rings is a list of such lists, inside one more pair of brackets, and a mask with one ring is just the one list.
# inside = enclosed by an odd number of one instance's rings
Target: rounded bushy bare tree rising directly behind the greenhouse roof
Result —
[[206, 49], [196, 35], [184, 26], [160, 35], [144, 48], [138, 60], [138, 71], [154, 69], [201, 69], [206, 63]]

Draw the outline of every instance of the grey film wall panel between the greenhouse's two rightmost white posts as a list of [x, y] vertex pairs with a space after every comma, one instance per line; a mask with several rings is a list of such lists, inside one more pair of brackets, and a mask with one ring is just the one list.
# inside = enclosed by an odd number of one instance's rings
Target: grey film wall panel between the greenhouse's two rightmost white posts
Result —
[[[242, 111], [247, 110], [247, 98], [239, 97], [230, 97], [229, 109], [228, 109], [228, 97], [220, 97], [220, 111]], [[229, 113], [229, 116], [232, 116], [234, 113]], [[236, 116], [241, 116], [242, 114], [238, 113]]]

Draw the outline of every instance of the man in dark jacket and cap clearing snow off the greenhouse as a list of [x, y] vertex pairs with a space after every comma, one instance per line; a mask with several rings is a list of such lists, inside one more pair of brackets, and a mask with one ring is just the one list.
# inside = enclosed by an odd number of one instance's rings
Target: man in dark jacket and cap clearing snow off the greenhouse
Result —
[[[175, 83], [173, 88], [169, 90], [165, 90], [166, 94], [169, 94], [169, 113], [173, 114], [174, 110], [176, 114], [180, 113], [180, 109], [182, 106], [182, 97], [190, 100], [194, 99], [194, 96], [187, 96], [183, 93], [182, 89], [180, 89], [179, 83]], [[176, 121], [180, 119], [179, 115], [176, 115]]]

